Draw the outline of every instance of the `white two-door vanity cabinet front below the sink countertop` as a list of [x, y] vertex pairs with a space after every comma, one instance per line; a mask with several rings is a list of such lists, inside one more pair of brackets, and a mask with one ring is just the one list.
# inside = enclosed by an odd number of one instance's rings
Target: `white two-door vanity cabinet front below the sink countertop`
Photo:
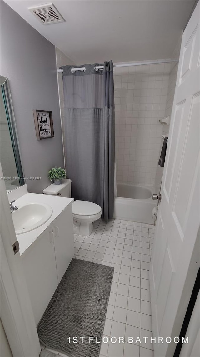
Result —
[[36, 325], [73, 256], [72, 205], [68, 205], [21, 256]]

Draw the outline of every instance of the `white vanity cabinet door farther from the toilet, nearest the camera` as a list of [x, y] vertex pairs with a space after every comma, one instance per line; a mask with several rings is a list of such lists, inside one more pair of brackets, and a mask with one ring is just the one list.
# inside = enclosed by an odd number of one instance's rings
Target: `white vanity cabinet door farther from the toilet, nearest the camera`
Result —
[[37, 325], [58, 286], [52, 226], [37, 238], [35, 246], [30, 246], [22, 259]]

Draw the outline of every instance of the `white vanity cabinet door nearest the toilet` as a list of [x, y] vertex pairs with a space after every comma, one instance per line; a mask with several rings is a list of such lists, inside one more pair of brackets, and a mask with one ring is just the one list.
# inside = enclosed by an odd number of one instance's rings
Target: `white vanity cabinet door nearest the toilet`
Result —
[[53, 223], [57, 274], [60, 282], [74, 256], [72, 205], [67, 206]]

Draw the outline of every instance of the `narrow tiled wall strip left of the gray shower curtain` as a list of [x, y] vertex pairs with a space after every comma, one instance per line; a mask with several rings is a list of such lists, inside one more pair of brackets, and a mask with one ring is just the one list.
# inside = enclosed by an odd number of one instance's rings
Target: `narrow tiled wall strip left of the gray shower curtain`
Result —
[[[56, 47], [56, 65], [57, 68], [66, 65], [75, 65], [73, 61], [69, 59], [63, 52], [61, 52]], [[65, 150], [65, 123], [64, 123], [64, 96], [63, 96], [63, 78], [62, 72], [57, 73], [58, 78], [58, 95], [59, 95], [59, 105], [60, 105], [60, 120], [62, 125], [62, 138], [63, 138], [63, 153], [64, 153], [64, 164], [66, 170], [66, 150]]]

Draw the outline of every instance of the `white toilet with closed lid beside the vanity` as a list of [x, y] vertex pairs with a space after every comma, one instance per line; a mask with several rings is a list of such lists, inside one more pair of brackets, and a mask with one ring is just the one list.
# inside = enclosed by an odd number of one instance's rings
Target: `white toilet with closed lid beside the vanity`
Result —
[[[43, 190], [44, 195], [71, 197], [72, 180], [63, 179], [61, 185], [48, 186]], [[89, 236], [93, 231], [93, 222], [101, 217], [101, 207], [89, 201], [74, 201], [72, 203], [74, 233]]]

